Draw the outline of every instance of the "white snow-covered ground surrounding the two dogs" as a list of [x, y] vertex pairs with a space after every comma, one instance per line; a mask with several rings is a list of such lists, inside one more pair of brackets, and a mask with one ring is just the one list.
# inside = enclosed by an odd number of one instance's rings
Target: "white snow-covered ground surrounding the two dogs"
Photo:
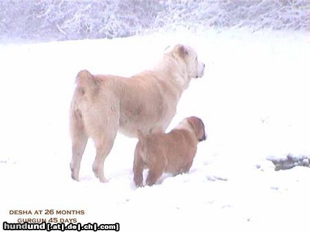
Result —
[[[49, 217], [9, 210], [85, 210], [56, 217], [118, 222], [121, 232], [308, 232], [310, 169], [276, 172], [267, 158], [310, 156], [309, 36], [240, 29], [0, 45], [0, 221]], [[81, 181], [72, 181], [68, 109], [77, 72], [130, 76], [178, 42], [207, 65], [169, 126], [192, 115], [205, 121], [208, 138], [190, 172], [135, 188], [136, 139], [118, 134], [105, 163], [109, 182], [92, 173], [92, 141]]]

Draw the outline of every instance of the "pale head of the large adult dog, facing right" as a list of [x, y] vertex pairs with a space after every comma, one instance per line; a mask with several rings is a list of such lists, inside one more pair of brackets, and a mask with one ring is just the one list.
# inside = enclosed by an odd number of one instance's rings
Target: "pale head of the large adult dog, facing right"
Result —
[[192, 47], [178, 44], [172, 48], [172, 52], [185, 61], [189, 79], [203, 77], [205, 64], [198, 61], [198, 56]]

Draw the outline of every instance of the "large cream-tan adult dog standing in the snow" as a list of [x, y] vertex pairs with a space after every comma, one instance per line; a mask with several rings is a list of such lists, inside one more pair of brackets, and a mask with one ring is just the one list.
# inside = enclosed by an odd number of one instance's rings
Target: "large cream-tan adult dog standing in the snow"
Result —
[[116, 133], [136, 137], [137, 130], [165, 132], [181, 94], [191, 79], [203, 77], [204, 69], [191, 47], [176, 45], [152, 70], [130, 78], [79, 72], [70, 108], [72, 179], [79, 180], [81, 159], [91, 138], [96, 146], [92, 170], [105, 182], [104, 162]]

